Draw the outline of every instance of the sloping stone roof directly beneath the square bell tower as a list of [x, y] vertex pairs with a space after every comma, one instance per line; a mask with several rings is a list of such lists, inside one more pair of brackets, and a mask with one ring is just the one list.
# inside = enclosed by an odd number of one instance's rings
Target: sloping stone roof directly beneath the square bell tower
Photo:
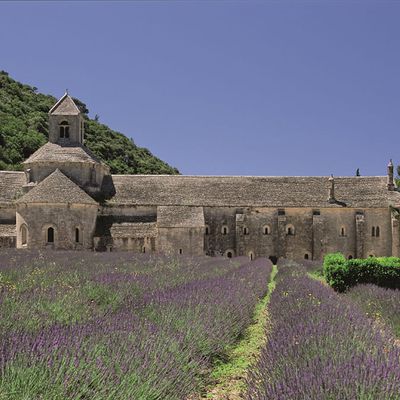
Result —
[[40, 149], [36, 150], [23, 164], [36, 162], [82, 162], [82, 163], [100, 163], [87, 147], [74, 144], [58, 144], [47, 142]]

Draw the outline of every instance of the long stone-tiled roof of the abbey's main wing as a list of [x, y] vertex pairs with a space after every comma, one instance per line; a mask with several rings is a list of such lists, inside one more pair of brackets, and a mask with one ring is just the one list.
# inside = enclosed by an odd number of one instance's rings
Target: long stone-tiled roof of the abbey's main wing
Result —
[[[328, 177], [253, 177], [113, 175], [110, 204], [232, 207], [374, 208], [400, 205], [387, 177], [335, 177], [335, 198], [328, 202]], [[344, 203], [344, 204], [343, 204]]]

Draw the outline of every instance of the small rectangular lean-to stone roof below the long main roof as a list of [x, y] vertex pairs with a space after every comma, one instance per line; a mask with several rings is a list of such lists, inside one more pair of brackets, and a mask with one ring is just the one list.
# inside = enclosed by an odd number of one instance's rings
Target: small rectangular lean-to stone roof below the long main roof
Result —
[[159, 206], [157, 226], [159, 228], [204, 227], [203, 207]]

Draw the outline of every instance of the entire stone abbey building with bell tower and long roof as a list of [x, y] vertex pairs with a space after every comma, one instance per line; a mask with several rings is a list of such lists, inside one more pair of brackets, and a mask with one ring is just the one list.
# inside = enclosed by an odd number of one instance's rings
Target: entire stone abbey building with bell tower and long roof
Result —
[[371, 177], [111, 175], [66, 93], [24, 172], [0, 171], [0, 247], [399, 256], [399, 206], [391, 162]]

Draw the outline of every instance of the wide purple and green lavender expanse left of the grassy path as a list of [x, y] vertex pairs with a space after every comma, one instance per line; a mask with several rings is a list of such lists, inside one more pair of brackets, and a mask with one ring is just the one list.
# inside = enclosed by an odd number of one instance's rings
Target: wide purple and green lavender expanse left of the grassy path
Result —
[[271, 263], [0, 253], [0, 398], [184, 399], [250, 323]]

